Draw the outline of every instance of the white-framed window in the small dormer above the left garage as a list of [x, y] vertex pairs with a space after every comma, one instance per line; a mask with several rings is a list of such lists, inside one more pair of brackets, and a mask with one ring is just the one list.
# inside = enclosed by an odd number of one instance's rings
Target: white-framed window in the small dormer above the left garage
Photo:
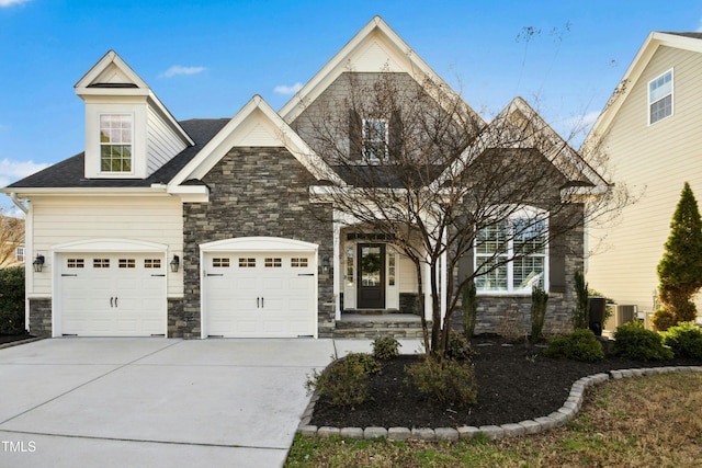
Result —
[[100, 171], [133, 172], [132, 114], [100, 114]]

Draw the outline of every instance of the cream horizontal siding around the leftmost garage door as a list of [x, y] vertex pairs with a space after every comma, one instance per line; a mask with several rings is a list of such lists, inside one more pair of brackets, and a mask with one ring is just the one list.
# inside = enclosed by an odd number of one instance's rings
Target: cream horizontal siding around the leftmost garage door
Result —
[[[33, 197], [33, 251], [46, 256], [42, 273], [32, 273], [29, 296], [52, 293], [53, 246], [94, 239], [128, 239], [168, 246], [168, 262], [173, 253], [183, 251], [183, 215], [174, 197]], [[182, 297], [182, 270], [168, 273], [168, 297]]]

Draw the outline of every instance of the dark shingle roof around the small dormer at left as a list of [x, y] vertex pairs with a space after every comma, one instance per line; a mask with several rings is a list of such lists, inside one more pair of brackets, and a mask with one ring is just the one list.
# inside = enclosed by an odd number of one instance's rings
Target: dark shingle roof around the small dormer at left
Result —
[[183, 129], [195, 141], [167, 162], [147, 179], [86, 179], [84, 152], [76, 155], [43, 171], [22, 179], [8, 189], [50, 187], [148, 187], [151, 184], [168, 183], [195, 155], [219, 132], [228, 118], [193, 118], [180, 122]]

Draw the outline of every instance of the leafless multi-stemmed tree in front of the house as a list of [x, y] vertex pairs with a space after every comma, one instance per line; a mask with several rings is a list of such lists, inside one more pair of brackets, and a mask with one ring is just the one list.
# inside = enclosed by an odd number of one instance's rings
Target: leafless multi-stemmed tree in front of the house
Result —
[[[439, 80], [349, 71], [303, 104], [294, 127], [343, 179], [313, 195], [333, 204], [338, 222], [361, 225], [411, 259], [424, 345], [434, 353], [448, 345], [464, 285], [484, 285], [510, 262], [554, 248], [569, 232], [581, 235], [586, 222], [626, 201], [521, 99], [487, 123]], [[475, 269], [458, 278], [466, 254], [476, 259]], [[523, 263], [521, 279], [544, 281], [543, 269]]]

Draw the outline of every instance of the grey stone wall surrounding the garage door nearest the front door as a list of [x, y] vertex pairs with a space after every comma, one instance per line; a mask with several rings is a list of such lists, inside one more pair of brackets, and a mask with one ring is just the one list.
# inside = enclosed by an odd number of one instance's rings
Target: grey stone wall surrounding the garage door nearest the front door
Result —
[[[313, 242], [321, 259], [333, 256], [331, 206], [312, 204], [309, 186], [315, 178], [285, 148], [233, 148], [202, 179], [210, 187], [210, 203], [183, 206], [183, 274], [185, 324], [174, 332], [199, 338], [201, 243], [238, 237], [271, 236]], [[319, 336], [329, 338], [336, 326], [332, 272], [318, 272]], [[178, 318], [176, 318], [178, 322]], [[169, 333], [170, 333], [169, 319]]]

